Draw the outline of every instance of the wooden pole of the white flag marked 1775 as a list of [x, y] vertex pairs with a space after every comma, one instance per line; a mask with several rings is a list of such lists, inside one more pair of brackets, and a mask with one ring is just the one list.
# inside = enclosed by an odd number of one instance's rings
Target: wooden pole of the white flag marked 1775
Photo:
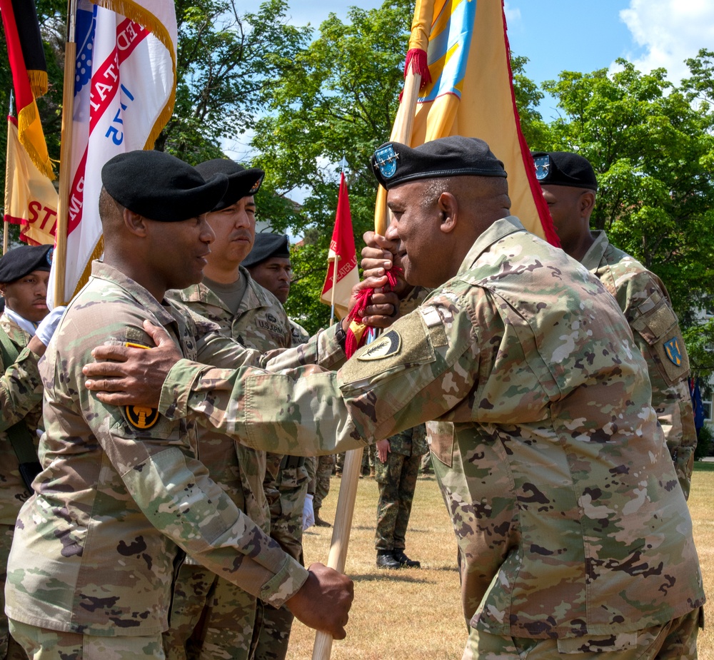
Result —
[[67, 268], [69, 187], [71, 185], [72, 117], [74, 116], [74, 66], [76, 63], [77, 0], [67, 2], [67, 41], [64, 44], [64, 88], [62, 91], [62, 133], [59, 151], [59, 200], [54, 251], [54, 305], [64, 305]]

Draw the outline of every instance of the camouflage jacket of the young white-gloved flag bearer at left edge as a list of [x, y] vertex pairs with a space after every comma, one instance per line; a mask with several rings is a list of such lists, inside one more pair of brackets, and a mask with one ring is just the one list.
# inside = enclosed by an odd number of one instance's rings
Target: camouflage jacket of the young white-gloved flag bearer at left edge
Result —
[[14, 525], [29, 492], [20, 477], [17, 457], [6, 430], [25, 420], [37, 445], [36, 430], [42, 423], [42, 384], [37, 370], [39, 357], [26, 349], [30, 335], [5, 314], [0, 316], [0, 326], [20, 353], [13, 365], [3, 365], [0, 357], [0, 524]]

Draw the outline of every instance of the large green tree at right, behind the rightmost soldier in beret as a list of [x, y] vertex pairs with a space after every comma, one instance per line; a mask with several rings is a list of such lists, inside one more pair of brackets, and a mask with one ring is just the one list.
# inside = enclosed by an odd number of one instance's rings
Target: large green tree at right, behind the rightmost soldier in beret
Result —
[[[675, 88], [663, 69], [618, 64], [612, 75], [564, 71], [543, 83], [565, 114], [550, 125], [550, 143], [538, 146], [579, 151], [593, 163], [593, 228], [660, 275], [688, 325], [714, 294], [714, 116], [707, 103], [691, 103], [694, 82]], [[693, 73], [699, 65], [701, 54]]]

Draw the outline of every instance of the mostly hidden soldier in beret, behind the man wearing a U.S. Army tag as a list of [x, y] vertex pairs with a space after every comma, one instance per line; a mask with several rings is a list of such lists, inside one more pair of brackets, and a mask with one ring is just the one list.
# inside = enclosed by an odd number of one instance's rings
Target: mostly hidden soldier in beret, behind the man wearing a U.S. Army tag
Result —
[[[269, 232], [256, 234], [253, 249], [243, 265], [258, 284], [273, 294], [281, 305], [285, 305], [293, 272], [290, 244], [286, 235]], [[281, 312], [283, 317], [287, 318], [282, 307]], [[301, 325], [293, 320], [289, 320], [289, 324], [293, 345], [301, 345], [310, 340], [310, 335]], [[278, 489], [278, 499], [271, 506], [271, 537], [276, 539], [291, 557], [303, 562], [303, 509], [308, 500], [311, 481], [311, 466], [307, 462], [314, 462], [314, 458], [275, 454], [268, 455], [268, 460], [271, 457], [277, 461], [275, 483]], [[283, 660], [288, 653], [292, 623], [293, 615], [287, 608], [264, 606], [256, 620], [253, 658]]]

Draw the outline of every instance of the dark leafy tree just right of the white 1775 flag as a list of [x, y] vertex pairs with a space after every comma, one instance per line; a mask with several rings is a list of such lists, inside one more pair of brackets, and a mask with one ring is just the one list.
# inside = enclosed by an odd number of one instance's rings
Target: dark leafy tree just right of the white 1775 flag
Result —
[[235, 0], [176, 1], [176, 106], [157, 149], [199, 163], [253, 128], [266, 88], [290, 74], [311, 34], [289, 25], [286, 9], [285, 0], [266, 0], [241, 15]]

